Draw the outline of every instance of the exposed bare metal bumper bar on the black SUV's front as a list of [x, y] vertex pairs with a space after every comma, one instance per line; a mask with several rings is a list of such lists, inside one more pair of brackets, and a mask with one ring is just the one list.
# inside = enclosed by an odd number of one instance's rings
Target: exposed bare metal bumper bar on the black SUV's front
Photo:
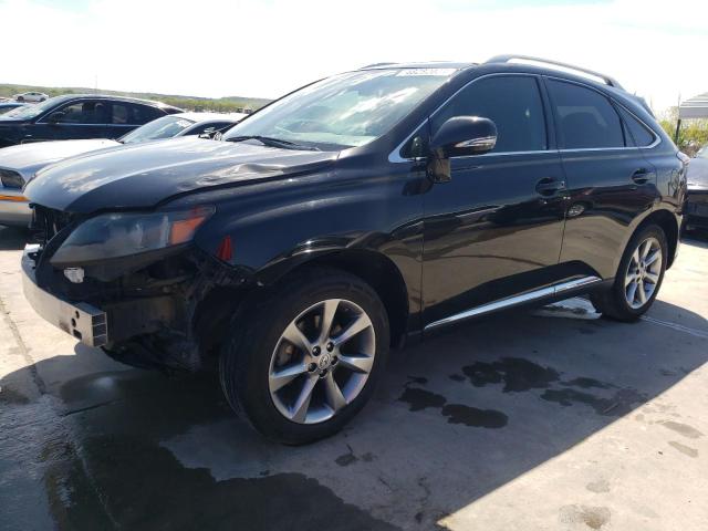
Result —
[[30, 305], [45, 321], [73, 335], [88, 346], [103, 346], [108, 343], [108, 323], [106, 313], [86, 303], [64, 301], [42, 290], [34, 277], [32, 253], [37, 246], [27, 246], [22, 254], [22, 289]]

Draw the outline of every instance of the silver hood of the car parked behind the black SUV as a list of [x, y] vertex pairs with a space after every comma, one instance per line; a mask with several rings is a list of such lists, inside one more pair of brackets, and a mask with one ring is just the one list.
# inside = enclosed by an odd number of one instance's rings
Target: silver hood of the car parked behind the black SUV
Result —
[[0, 168], [14, 169], [29, 179], [44, 166], [86, 152], [119, 146], [115, 140], [33, 142], [0, 149]]

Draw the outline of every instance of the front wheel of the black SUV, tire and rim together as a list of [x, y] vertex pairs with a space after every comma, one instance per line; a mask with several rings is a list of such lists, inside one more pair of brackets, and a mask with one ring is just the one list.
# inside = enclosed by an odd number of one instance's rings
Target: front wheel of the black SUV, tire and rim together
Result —
[[[368, 284], [340, 270], [312, 268], [241, 308], [219, 360], [219, 376], [231, 407], [257, 431], [303, 445], [334, 435], [364, 407], [389, 344], [386, 310]], [[325, 308], [333, 315], [331, 329], [322, 326]], [[331, 330], [326, 337], [325, 327]], [[360, 331], [345, 339], [344, 332], [353, 330]], [[365, 354], [350, 355], [354, 351]], [[367, 372], [355, 371], [358, 365]], [[298, 376], [290, 378], [285, 367]], [[306, 389], [313, 389], [309, 400], [302, 398]], [[305, 402], [303, 414], [298, 406]]]

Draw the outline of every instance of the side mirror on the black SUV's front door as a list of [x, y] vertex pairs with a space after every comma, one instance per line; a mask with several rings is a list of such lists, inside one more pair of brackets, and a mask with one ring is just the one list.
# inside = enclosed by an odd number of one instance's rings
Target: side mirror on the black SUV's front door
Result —
[[497, 145], [497, 126], [489, 118], [455, 116], [445, 122], [430, 140], [436, 158], [464, 157], [491, 152]]

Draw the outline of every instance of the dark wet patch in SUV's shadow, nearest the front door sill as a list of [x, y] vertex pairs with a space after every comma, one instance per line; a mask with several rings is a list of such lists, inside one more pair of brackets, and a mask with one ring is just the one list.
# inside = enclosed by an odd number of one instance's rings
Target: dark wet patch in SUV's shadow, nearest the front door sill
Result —
[[462, 367], [462, 373], [475, 387], [503, 382], [503, 393], [521, 393], [548, 388], [560, 374], [522, 357], [502, 357], [498, 362], [475, 362]]

